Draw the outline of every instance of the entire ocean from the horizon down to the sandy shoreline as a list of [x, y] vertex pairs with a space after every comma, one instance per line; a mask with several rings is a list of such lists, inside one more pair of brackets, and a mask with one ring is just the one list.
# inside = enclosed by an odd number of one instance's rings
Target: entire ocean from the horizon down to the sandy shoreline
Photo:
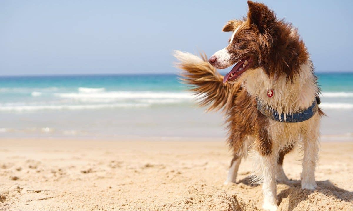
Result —
[[[322, 134], [353, 136], [353, 73], [317, 73]], [[177, 75], [0, 77], [3, 137], [224, 137], [220, 113], [205, 113]]]

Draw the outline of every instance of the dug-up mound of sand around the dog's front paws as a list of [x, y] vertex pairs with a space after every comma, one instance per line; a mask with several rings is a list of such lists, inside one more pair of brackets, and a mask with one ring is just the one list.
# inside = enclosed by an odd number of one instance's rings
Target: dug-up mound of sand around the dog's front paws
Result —
[[[303, 210], [353, 210], [353, 192], [340, 189], [329, 181], [318, 182], [317, 190], [303, 190], [298, 187], [300, 181], [292, 186], [278, 185], [279, 209], [283, 211]], [[237, 196], [238, 188], [247, 190], [250, 199], [244, 200]], [[256, 211], [262, 210], [261, 185], [244, 187], [244, 184], [233, 184], [228, 190], [206, 185], [192, 185], [184, 194], [185, 197], [174, 202], [157, 207], [146, 207], [146, 210], [180, 211], [180, 210], [209, 210], [209, 211]], [[235, 191], [234, 191], [235, 190]], [[240, 192], [240, 191], [239, 191]], [[239, 193], [242, 195], [241, 193]]]

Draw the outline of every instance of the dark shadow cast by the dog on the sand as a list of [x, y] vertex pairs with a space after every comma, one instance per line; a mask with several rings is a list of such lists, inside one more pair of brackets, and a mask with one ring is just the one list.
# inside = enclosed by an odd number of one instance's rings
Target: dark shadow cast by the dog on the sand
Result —
[[[253, 183], [253, 181], [254, 177], [250, 175], [248, 177], [245, 177], [244, 179], [239, 180], [237, 184], [242, 183], [244, 185], [249, 185], [252, 187], [260, 185], [258, 183]], [[289, 186], [287, 189], [282, 190], [277, 195], [279, 204], [282, 202], [283, 199], [288, 198], [288, 211], [294, 210], [294, 208], [297, 207], [300, 202], [305, 201], [308, 198], [311, 198], [311, 201], [315, 200], [315, 196], [312, 195], [313, 193], [321, 193], [329, 200], [337, 199], [353, 203], [353, 192], [337, 187], [330, 180], [316, 181], [316, 184], [318, 185], [316, 190], [301, 189], [300, 183], [301, 180], [289, 180], [288, 183], [278, 183], [286, 184]]]

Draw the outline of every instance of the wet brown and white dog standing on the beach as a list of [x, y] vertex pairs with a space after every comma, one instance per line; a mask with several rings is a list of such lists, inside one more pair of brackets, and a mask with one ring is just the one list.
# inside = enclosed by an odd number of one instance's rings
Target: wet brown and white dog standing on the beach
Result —
[[[233, 159], [226, 183], [235, 182], [242, 157], [256, 149], [263, 181], [265, 210], [277, 209], [277, 180], [287, 180], [283, 156], [299, 144], [303, 149], [301, 188], [314, 190], [322, 110], [298, 123], [275, 121], [257, 109], [257, 102], [278, 114], [291, 115], [309, 108], [319, 94], [310, 55], [291, 24], [276, 19], [261, 3], [248, 1], [243, 20], [223, 27], [233, 32], [229, 44], [207, 62], [187, 52], [175, 52], [185, 83], [201, 97], [208, 110], [222, 109], [228, 123], [228, 143]], [[223, 78], [215, 68], [234, 65]], [[222, 79], [223, 78], [223, 79]]]

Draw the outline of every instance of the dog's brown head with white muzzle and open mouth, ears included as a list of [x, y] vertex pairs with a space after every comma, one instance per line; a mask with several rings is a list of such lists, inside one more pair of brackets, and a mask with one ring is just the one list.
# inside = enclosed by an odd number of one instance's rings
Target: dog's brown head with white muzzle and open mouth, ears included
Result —
[[232, 70], [223, 78], [223, 83], [243, 80], [251, 71], [262, 65], [274, 44], [278, 26], [276, 15], [266, 5], [248, 1], [249, 12], [243, 20], [230, 20], [222, 31], [233, 32], [228, 46], [217, 51], [209, 63], [217, 69]]

